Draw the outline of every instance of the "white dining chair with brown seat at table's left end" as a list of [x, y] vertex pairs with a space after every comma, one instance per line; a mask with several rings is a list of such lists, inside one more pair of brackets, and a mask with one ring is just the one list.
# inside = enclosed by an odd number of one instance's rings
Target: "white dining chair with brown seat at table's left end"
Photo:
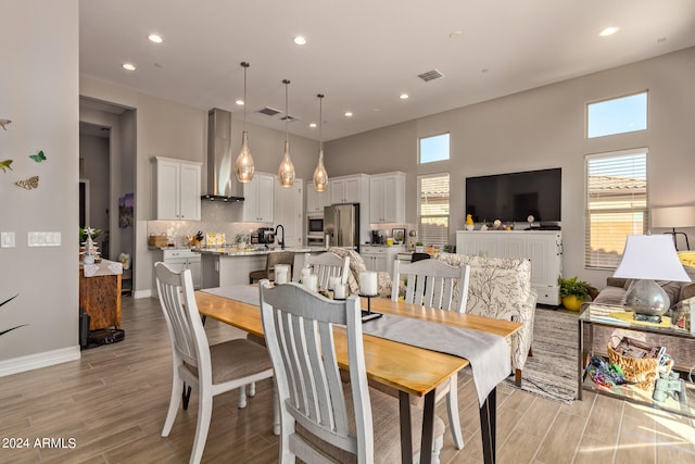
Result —
[[[264, 347], [243, 338], [210, 346], [198, 312], [190, 269], [176, 273], [164, 263], [155, 263], [154, 268], [173, 361], [172, 398], [162, 437], [168, 437], [172, 431], [186, 384], [199, 394], [198, 423], [190, 456], [190, 463], [199, 463], [207, 440], [213, 397], [273, 377], [273, 363]], [[274, 432], [278, 435], [279, 413], [275, 400]]]

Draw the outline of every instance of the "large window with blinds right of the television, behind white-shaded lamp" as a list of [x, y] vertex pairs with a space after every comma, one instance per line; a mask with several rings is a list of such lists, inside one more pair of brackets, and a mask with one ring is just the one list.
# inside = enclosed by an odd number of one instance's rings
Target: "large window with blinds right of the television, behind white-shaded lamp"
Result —
[[645, 234], [648, 220], [647, 150], [586, 156], [586, 267], [615, 269], [627, 236]]

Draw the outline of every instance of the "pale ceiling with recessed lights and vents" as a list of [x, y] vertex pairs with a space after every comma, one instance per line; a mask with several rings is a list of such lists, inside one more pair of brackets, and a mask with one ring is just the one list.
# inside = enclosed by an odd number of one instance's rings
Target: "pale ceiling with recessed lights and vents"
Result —
[[80, 0], [79, 24], [84, 75], [243, 118], [247, 61], [247, 121], [285, 130], [290, 79], [289, 131], [318, 139], [320, 92], [331, 140], [695, 46], [695, 1]]

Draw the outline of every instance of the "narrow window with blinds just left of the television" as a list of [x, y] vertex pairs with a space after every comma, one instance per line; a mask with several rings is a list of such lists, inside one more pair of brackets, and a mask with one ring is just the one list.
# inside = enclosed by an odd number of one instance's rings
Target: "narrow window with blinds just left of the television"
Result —
[[448, 243], [448, 174], [417, 178], [417, 240], [426, 246]]

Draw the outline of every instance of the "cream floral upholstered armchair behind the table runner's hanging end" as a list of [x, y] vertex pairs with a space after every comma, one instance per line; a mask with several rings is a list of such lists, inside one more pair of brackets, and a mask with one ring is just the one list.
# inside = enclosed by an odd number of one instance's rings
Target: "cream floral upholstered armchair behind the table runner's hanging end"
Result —
[[523, 324], [510, 339], [515, 380], [517, 385], [521, 385], [521, 371], [533, 341], [533, 317], [538, 300], [531, 288], [531, 262], [525, 259], [450, 253], [440, 253], [437, 259], [454, 266], [470, 265], [466, 313]]

